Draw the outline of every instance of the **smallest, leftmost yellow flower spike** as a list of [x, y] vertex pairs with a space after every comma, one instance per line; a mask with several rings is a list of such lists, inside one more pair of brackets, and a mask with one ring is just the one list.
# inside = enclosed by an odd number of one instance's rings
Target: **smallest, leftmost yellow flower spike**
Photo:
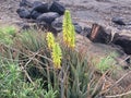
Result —
[[55, 46], [55, 37], [52, 35], [52, 33], [47, 33], [47, 45], [49, 49], [52, 49], [52, 47]]

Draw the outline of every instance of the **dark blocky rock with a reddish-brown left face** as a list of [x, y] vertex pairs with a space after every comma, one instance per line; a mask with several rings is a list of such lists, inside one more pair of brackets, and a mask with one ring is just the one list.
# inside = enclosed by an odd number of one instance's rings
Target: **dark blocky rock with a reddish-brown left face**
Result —
[[88, 38], [93, 42], [108, 44], [111, 40], [111, 30], [98, 24], [93, 24]]

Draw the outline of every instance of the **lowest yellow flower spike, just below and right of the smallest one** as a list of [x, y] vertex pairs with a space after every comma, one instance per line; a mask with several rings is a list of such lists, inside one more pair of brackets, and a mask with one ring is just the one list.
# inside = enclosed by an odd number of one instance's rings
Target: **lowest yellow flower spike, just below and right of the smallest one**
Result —
[[52, 48], [52, 61], [53, 61], [53, 68], [55, 69], [61, 69], [61, 59], [62, 59], [62, 52], [60, 49], [59, 44], [55, 44], [53, 48]]

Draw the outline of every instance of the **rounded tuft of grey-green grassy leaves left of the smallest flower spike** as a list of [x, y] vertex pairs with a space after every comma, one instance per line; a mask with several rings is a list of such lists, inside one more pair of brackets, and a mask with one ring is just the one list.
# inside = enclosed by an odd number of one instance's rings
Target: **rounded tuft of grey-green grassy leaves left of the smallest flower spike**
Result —
[[15, 44], [19, 49], [27, 49], [33, 52], [40, 50], [44, 46], [47, 47], [45, 34], [38, 33], [36, 29], [23, 30], [17, 36]]

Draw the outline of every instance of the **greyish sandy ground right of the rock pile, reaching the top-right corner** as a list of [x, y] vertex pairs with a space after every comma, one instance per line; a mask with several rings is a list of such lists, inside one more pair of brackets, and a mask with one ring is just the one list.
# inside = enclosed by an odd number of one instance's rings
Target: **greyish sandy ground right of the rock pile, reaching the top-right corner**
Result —
[[[122, 17], [126, 23], [131, 23], [131, 0], [60, 0], [71, 9], [74, 17], [87, 24], [98, 23], [115, 29], [112, 17]], [[131, 30], [131, 25], [126, 28]]]

